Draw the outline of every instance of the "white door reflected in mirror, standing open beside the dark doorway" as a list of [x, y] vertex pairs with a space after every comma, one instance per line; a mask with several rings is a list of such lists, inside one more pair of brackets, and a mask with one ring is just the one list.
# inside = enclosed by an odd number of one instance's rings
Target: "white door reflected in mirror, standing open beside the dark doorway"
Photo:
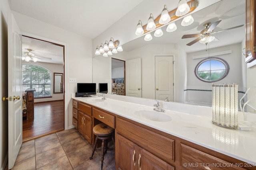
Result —
[[125, 61], [126, 96], [141, 98], [141, 58]]

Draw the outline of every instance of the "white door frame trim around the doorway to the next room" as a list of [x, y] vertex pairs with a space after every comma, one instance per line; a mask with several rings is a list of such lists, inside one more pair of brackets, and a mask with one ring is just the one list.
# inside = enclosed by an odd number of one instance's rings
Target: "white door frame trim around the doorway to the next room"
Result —
[[30, 34], [30, 33], [26, 33], [26, 32], [22, 32], [21, 31], [21, 34], [24, 35], [24, 36], [27, 36], [27, 37], [31, 37], [31, 38], [34, 38], [34, 39], [39, 39], [39, 40], [42, 40], [42, 41], [48, 41], [48, 42], [51, 42], [51, 43], [56, 43], [56, 44], [59, 44], [59, 45], [63, 45], [64, 46], [64, 130], [67, 130], [68, 129], [68, 95], [67, 95], [67, 89], [68, 89], [68, 78], [67, 78], [67, 44], [66, 43], [62, 43], [60, 41], [56, 41], [56, 40], [53, 40], [53, 39], [49, 39], [49, 38], [46, 38], [46, 37], [41, 37], [41, 36], [38, 36], [38, 35], [34, 35], [34, 34]]

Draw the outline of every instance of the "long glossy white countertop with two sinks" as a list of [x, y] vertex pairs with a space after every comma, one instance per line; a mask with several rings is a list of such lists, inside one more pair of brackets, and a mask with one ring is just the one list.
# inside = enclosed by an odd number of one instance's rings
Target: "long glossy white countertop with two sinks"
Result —
[[[118, 95], [111, 95], [115, 98]], [[93, 96], [91, 98], [99, 98]], [[142, 123], [154, 129], [158, 129], [170, 135], [174, 135], [176, 137], [180, 137], [192, 143], [196, 143], [208, 149], [215, 150], [222, 154], [226, 154], [233, 158], [237, 158], [244, 162], [250, 163], [256, 166], [256, 127], [250, 129], [250, 131], [240, 131], [238, 129], [230, 129], [226, 127], [221, 127], [212, 123], [212, 117], [207, 113], [206, 116], [202, 116], [202, 113], [199, 115], [184, 113], [181, 111], [177, 111], [177, 108], [172, 111], [170, 106], [163, 107], [166, 109], [166, 112], [163, 114], [169, 115], [172, 120], [166, 122], [159, 121], [151, 121], [148, 119], [144, 119], [134, 115], [134, 111], [144, 109], [148, 111], [153, 111], [154, 107], [152, 104], [149, 106], [136, 104], [132, 102], [125, 102], [122, 100], [114, 100], [108, 98], [104, 102], [88, 102], [88, 98], [82, 97], [73, 97], [73, 99], [88, 103], [92, 106], [99, 107], [106, 111], [110, 111], [115, 113], [116, 115], [120, 115], [122, 117], [126, 117], [138, 123]], [[138, 100], [134, 98], [134, 100]], [[143, 99], [140, 99], [143, 100]], [[145, 100], [144, 102], [156, 103], [154, 100]], [[138, 102], [141, 103], [141, 102]], [[143, 103], [143, 102], [142, 102]], [[165, 105], [167, 102], [162, 102]], [[172, 103], [173, 102], [168, 102]], [[162, 105], [162, 104], [161, 104]], [[185, 104], [183, 104], [185, 106]], [[188, 105], [188, 107], [193, 107]], [[181, 108], [183, 111], [184, 109]], [[207, 108], [206, 110], [209, 109]], [[156, 114], [161, 113], [155, 111]], [[200, 111], [198, 111], [200, 112]], [[254, 115], [254, 114], [253, 114]], [[254, 121], [256, 121], [254, 119]]]

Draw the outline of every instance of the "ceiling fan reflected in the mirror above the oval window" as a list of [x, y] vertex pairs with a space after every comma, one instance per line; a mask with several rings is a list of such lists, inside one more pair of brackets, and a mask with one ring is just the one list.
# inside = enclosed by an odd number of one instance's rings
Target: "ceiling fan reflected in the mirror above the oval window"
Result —
[[[221, 20], [220, 20], [221, 21]], [[187, 34], [187, 35], [183, 35], [182, 36], [182, 39], [184, 38], [194, 38], [194, 37], [198, 37], [197, 39], [194, 39], [193, 41], [191, 41], [190, 43], [188, 43], [187, 45], [190, 46], [190, 45], [193, 45], [194, 43], [196, 42], [200, 42], [200, 43], [203, 43], [203, 44], [208, 44], [210, 43], [211, 41], [213, 41], [214, 39], [216, 39], [214, 36], [211, 36], [212, 34], [214, 33], [219, 33], [219, 32], [222, 32], [222, 31], [226, 31], [226, 30], [229, 30], [229, 29], [234, 29], [234, 28], [238, 28], [238, 27], [242, 27], [243, 25], [238, 25], [236, 27], [231, 27], [231, 28], [227, 28], [227, 29], [222, 29], [220, 31], [216, 31], [216, 32], [213, 32], [214, 28], [220, 23], [220, 21], [216, 21], [214, 23], [205, 23], [204, 24], [204, 29], [198, 33], [198, 34]], [[218, 39], [217, 39], [218, 40]]]

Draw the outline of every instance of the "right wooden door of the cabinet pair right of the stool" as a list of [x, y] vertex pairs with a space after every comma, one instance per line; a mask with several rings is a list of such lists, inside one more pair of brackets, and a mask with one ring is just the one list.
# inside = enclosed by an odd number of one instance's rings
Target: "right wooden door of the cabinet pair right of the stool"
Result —
[[138, 169], [140, 170], [174, 170], [175, 168], [154, 156], [150, 152], [138, 147]]

